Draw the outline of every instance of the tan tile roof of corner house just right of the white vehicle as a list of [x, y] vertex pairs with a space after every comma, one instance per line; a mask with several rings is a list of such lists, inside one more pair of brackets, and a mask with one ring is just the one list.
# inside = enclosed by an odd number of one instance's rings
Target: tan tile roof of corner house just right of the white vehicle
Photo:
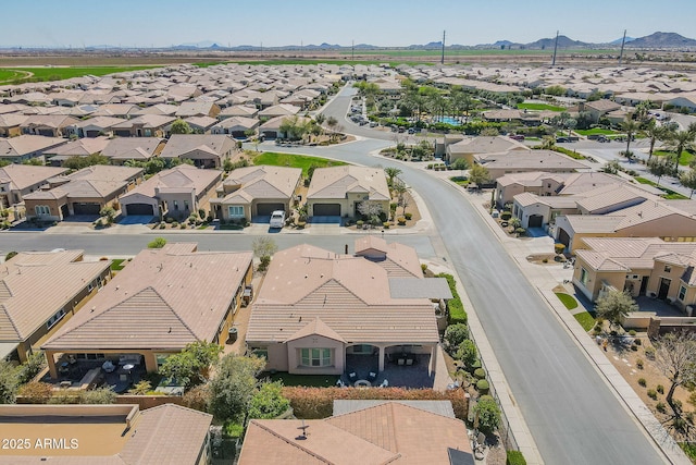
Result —
[[383, 169], [355, 166], [314, 170], [307, 198], [347, 198], [348, 193], [364, 193], [369, 196], [369, 200], [391, 198]]

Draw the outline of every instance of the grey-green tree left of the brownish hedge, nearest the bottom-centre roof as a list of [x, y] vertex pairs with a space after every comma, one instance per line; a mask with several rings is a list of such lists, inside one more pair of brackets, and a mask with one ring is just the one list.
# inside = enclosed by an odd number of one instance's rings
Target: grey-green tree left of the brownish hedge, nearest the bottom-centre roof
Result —
[[208, 386], [210, 412], [220, 420], [244, 419], [264, 366], [265, 360], [256, 356], [225, 355]]

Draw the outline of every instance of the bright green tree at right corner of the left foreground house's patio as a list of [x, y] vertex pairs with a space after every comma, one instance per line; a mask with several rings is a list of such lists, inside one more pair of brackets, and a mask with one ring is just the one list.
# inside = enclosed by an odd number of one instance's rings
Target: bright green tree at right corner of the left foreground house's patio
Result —
[[210, 366], [221, 353], [222, 347], [214, 342], [191, 342], [178, 354], [166, 357], [160, 374], [191, 388], [206, 382]]

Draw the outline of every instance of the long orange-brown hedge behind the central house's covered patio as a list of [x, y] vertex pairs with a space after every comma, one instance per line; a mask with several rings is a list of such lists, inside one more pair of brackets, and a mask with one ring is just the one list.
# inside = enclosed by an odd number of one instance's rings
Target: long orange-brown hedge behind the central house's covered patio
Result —
[[469, 403], [463, 390], [434, 391], [432, 389], [405, 388], [307, 388], [284, 387], [283, 396], [290, 401], [297, 418], [327, 418], [334, 413], [336, 400], [389, 400], [389, 401], [450, 401], [455, 416], [467, 419]]

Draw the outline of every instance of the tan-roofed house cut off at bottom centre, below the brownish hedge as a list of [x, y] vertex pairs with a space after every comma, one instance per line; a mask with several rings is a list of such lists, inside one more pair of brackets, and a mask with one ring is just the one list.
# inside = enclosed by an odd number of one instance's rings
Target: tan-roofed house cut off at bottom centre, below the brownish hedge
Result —
[[420, 404], [377, 402], [324, 419], [252, 419], [239, 465], [473, 465], [464, 423]]

